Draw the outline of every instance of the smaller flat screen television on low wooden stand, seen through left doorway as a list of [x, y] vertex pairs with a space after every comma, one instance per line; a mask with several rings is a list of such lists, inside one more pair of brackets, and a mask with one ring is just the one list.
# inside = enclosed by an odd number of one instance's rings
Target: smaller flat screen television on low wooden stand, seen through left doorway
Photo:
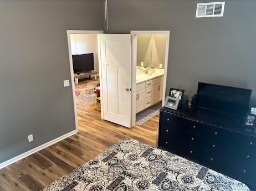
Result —
[[93, 53], [72, 55], [74, 73], [94, 70]]

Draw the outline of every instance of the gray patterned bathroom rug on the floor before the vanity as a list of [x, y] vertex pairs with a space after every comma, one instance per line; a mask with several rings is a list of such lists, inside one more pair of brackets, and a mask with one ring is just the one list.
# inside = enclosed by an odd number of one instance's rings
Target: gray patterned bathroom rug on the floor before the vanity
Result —
[[148, 109], [138, 113], [136, 115], [136, 125], [142, 125], [143, 123], [149, 121], [151, 118], [155, 117], [159, 114], [160, 109], [162, 107], [161, 103], [153, 105]]

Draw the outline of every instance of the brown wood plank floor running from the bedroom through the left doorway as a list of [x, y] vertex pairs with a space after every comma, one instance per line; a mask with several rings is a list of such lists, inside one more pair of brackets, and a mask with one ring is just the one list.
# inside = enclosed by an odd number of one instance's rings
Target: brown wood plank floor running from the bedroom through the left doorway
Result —
[[[91, 83], [95, 80], [81, 80]], [[100, 104], [98, 104], [100, 105]], [[159, 116], [126, 128], [101, 120], [100, 108], [77, 106], [79, 133], [0, 170], [1, 191], [40, 190], [126, 137], [156, 146]]]

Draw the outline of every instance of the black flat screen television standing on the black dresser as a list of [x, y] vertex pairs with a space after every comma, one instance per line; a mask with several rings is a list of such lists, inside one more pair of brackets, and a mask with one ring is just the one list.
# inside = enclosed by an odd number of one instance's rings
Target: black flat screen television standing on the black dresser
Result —
[[201, 109], [245, 116], [251, 94], [252, 90], [249, 89], [198, 82], [197, 106]]

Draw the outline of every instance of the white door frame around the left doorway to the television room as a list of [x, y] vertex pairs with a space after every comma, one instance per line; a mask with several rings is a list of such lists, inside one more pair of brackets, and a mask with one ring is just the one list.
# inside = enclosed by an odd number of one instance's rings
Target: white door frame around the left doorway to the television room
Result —
[[[71, 40], [70, 40], [70, 34], [102, 34], [104, 33], [103, 30], [66, 30], [66, 35], [68, 38], [68, 50], [69, 50], [69, 65], [70, 65], [70, 76], [71, 76], [71, 87], [72, 87], [72, 93], [73, 93], [73, 105], [74, 105], [74, 115], [75, 115], [75, 128], [76, 131], [78, 130], [78, 113], [76, 111], [76, 101], [75, 101], [75, 81], [74, 81], [74, 70], [73, 70], [73, 59], [72, 59], [72, 53], [71, 53]], [[99, 38], [98, 38], [98, 50], [99, 50]], [[98, 55], [100, 53], [98, 52]], [[99, 60], [100, 65], [100, 60]], [[99, 66], [99, 75], [101, 80], [101, 70]], [[101, 112], [102, 113], [102, 112]]]

